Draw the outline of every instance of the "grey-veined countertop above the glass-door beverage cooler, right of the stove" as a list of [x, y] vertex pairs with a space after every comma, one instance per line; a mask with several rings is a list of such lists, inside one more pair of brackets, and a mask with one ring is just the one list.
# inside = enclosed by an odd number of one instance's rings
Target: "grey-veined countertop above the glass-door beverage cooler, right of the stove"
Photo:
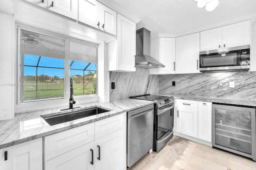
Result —
[[256, 106], [256, 100], [243, 100], [243, 99], [237, 100], [237, 99], [230, 99], [230, 98], [188, 96], [188, 95], [168, 94], [168, 93], [158, 93], [155, 95], [173, 96], [174, 99], [196, 100], [196, 101], [202, 101], [202, 102], [215, 102], [215, 103], [236, 104], [236, 105], [244, 105], [244, 106]]

